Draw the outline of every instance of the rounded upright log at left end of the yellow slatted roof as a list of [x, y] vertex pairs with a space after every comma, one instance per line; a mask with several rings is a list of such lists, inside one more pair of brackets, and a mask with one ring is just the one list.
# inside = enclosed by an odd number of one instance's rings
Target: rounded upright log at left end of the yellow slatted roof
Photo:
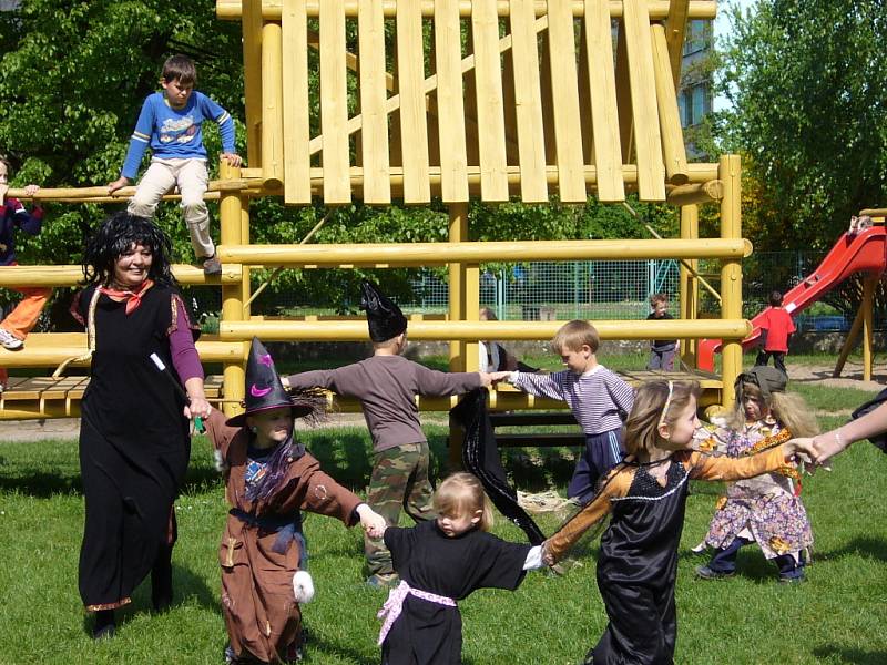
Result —
[[262, 27], [262, 174], [268, 186], [284, 182], [283, 30]]

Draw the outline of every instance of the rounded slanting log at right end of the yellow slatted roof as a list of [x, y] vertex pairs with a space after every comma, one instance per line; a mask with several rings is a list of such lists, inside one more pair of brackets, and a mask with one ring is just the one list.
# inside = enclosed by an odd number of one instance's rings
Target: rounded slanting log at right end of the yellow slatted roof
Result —
[[690, 180], [686, 165], [686, 147], [684, 133], [681, 130], [681, 114], [677, 111], [677, 93], [672, 78], [672, 64], [669, 60], [669, 44], [665, 41], [665, 29], [656, 23], [650, 27], [650, 39], [653, 45], [653, 72], [656, 78], [656, 108], [662, 133], [662, 156], [665, 162], [665, 175], [673, 185], [684, 185]]

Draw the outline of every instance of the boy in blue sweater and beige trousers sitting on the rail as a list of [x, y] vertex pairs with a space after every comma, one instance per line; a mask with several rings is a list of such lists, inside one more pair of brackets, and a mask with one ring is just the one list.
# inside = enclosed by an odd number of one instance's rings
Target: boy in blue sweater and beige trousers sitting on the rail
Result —
[[206, 275], [218, 275], [222, 264], [215, 256], [215, 245], [210, 236], [210, 212], [203, 201], [210, 180], [201, 129], [203, 121], [218, 123], [223, 160], [232, 166], [239, 166], [241, 157], [234, 147], [234, 121], [222, 106], [194, 90], [196, 81], [197, 70], [190, 58], [173, 55], [163, 63], [160, 80], [163, 92], [145, 98], [130, 140], [126, 161], [120, 177], [108, 184], [108, 192], [112, 194], [135, 178], [142, 156], [151, 145], [151, 165], [139, 182], [128, 212], [136, 217], [151, 218], [163, 195], [177, 185], [197, 262]]

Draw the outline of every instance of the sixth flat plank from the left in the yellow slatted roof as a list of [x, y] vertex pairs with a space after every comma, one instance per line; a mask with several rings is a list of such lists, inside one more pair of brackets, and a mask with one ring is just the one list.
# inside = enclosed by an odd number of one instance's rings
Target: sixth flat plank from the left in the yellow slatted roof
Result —
[[486, 202], [508, 201], [506, 123], [496, 0], [473, 0], [471, 37], [475, 47], [481, 197]]

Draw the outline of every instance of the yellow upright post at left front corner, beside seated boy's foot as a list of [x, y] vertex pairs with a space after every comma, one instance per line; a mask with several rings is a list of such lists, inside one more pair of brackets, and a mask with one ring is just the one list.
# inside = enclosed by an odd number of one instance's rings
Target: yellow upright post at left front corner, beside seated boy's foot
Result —
[[[220, 175], [225, 177], [238, 177], [239, 168], [222, 162]], [[243, 200], [236, 192], [226, 192], [218, 206], [220, 226], [222, 245], [238, 244], [248, 242], [244, 238], [244, 206]], [[221, 254], [221, 253], [220, 253]], [[226, 321], [242, 321], [245, 318], [243, 310], [244, 298], [248, 297], [249, 273], [244, 270], [245, 279], [241, 284], [222, 285], [222, 319], [220, 326]], [[247, 315], [248, 316], [248, 315]], [[245, 396], [246, 375], [244, 371], [244, 358], [246, 358], [248, 342], [243, 342], [243, 355], [238, 361], [230, 361], [223, 365], [224, 395], [227, 401], [224, 406], [225, 416], [236, 416], [242, 411], [239, 405], [234, 400], [241, 400]]]

